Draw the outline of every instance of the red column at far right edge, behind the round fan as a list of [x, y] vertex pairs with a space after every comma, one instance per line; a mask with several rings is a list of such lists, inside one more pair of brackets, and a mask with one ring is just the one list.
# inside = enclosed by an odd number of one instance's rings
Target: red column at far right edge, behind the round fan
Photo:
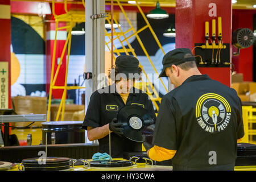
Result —
[[[248, 10], [233, 10], [232, 31], [237, 28], [249, 28], [253, 30], [253, 15], [255, 11]], [[233, 52], [237, 52], [235, 47]], [[232, 56], [234, 71], [243, 73], [244, 81], [253, 81], [253, 46], [245, 49], [240, 49], [240, 55]]]

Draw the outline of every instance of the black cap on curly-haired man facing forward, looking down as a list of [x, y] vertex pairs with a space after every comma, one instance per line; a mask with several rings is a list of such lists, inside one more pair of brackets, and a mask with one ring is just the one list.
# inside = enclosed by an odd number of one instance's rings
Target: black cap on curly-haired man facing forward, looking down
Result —
[[115, 59], [119, 73], [124, 73], [129, 78], [129, 73], [139, 74], [139, 60], [134, 56], [121, 55]]

